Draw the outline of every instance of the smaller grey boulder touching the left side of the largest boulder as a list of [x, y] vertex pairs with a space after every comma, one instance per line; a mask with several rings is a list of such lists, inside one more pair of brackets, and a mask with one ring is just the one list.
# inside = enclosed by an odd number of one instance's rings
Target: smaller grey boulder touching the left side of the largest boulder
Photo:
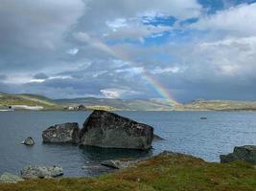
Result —
[[63, 123], [49, 127], [42, 133], [45, 143], [79, 143], [79, 124]]

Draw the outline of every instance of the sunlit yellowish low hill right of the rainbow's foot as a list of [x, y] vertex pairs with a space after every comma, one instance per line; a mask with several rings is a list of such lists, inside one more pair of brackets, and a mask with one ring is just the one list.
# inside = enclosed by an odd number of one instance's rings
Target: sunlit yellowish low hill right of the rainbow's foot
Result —
[[198, 99], [190, 103], [176, 105], [174, 110], [256, 111], [256, 101]]

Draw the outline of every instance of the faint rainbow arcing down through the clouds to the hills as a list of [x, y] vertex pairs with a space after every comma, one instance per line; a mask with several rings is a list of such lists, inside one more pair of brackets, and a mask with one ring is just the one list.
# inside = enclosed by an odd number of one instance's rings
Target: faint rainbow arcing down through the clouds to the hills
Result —
[[[90, 43], [93, 47], [105, 52], [109, 53], [112, 56], [121, 59], [123, 61], [128, 61], [128, 63], [132, 67], [139, 67], [137, 63], [130, 61], [125, 53], [121, 53], [120, 50], [113, 50], [109, 46], [107, 46], [105, 43], [102, 41], [91, 38], [87, 33], [82, 33], [85, 37], [86, 43]], [[171, 106], [177, 105], [178, 102], [175, 101], [175, 97], [171, 96], [170, 92], [155, 78], [153, 77], [149, 72], [147, 72], [145, 69], [143, 69], [142, 75], [144, 78], [149, 82], [151, 85], [152, 89], [154, 90], [155, 93], [157, 93], [159, 96], [162, 96]]]

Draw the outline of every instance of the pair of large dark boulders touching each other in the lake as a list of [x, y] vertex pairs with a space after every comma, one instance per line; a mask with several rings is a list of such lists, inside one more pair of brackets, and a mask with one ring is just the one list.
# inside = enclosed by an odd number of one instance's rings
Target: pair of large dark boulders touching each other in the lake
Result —
[[151, 148], [153, 128], [127, 117], [102, 110], [94, 111], [83, 123], [64, 123], [42, 133], [43, 142], [78, 143], [83, 146], [147, 150]]

